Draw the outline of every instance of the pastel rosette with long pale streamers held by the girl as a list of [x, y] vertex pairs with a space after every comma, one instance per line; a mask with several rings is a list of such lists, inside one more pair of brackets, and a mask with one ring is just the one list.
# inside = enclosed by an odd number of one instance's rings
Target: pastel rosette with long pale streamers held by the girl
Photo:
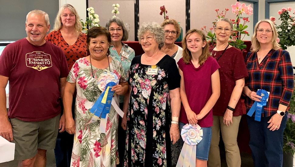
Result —
[[203, 139], [203, 130], [198, 124], [186, 124], [181, 129], [184, 141], [176, 167], [196, 167], [197, 144]]

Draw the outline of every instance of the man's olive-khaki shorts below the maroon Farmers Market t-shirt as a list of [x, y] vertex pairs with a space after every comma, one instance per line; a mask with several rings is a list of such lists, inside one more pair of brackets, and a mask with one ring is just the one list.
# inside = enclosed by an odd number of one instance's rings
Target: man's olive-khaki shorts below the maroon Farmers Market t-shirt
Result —
[[60, 114], [40, 122], [10, 119], [15, 143], [15, 160], [26, 160], [37, 154], [37, 148], [52, 150], [55, 147]]

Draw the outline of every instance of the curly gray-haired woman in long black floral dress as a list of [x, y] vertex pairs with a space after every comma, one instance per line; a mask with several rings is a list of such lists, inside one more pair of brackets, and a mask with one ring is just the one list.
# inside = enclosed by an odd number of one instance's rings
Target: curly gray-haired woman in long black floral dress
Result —
[[[160, 49], [164, 29], [158, 23], [144, 23], [138, 30], [144, 54], [136, 56], [130, 66], [130, 103], [124, 104], [122, 127], [127, 139], [124, 166], [171, 166], [171, 146], [179, 139], [180, 76], [173, 58]], [[170, 102], [171, 101], [171, 102]], [[171, 105], [170, 105], [171, 104]], [[171, 127], [170, 127], [171, 126]]]

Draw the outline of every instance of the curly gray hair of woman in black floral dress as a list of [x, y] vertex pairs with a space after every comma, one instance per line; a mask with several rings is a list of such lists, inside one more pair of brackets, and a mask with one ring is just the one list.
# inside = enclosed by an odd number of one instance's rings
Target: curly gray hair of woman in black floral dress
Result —
[[159, 43], [159, 49], [161, 49], [164, 46], [164, 28], [161, 27], [158, 23], [152, 22], [152, 23], [142, 23], [140, 28], [137, 32], [137, 37], [139, 39], [139, 44], [141, 44], [140, 38], [146, 33], [150, 32], [152, 35], [154, 35], [154, 39], [157, 43]]

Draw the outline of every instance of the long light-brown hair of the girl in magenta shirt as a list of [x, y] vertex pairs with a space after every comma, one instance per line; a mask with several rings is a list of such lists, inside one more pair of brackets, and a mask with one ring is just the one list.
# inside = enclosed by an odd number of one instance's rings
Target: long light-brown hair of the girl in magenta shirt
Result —
[[199, 57], [199, 64], [202, 65], [208, 57], [210, 57], [209, 52], [209, 44], [206, 40], [206, 36], [203, 33], [203, 31], [197, 30], [197, 29], [191, 29], [186, 33], [186, 36], [182, 39], [182, 59], [183, 62], [186, 64], [189, 64], [189, 61], [192, 59], [192, 53], [189, 51], [186, 45], [186, 37], [189, 37], [191, 34], [197, 33], [202, 37], [202, 42], [206, 41], [206, 45], [202, 48], [202, 54]]

